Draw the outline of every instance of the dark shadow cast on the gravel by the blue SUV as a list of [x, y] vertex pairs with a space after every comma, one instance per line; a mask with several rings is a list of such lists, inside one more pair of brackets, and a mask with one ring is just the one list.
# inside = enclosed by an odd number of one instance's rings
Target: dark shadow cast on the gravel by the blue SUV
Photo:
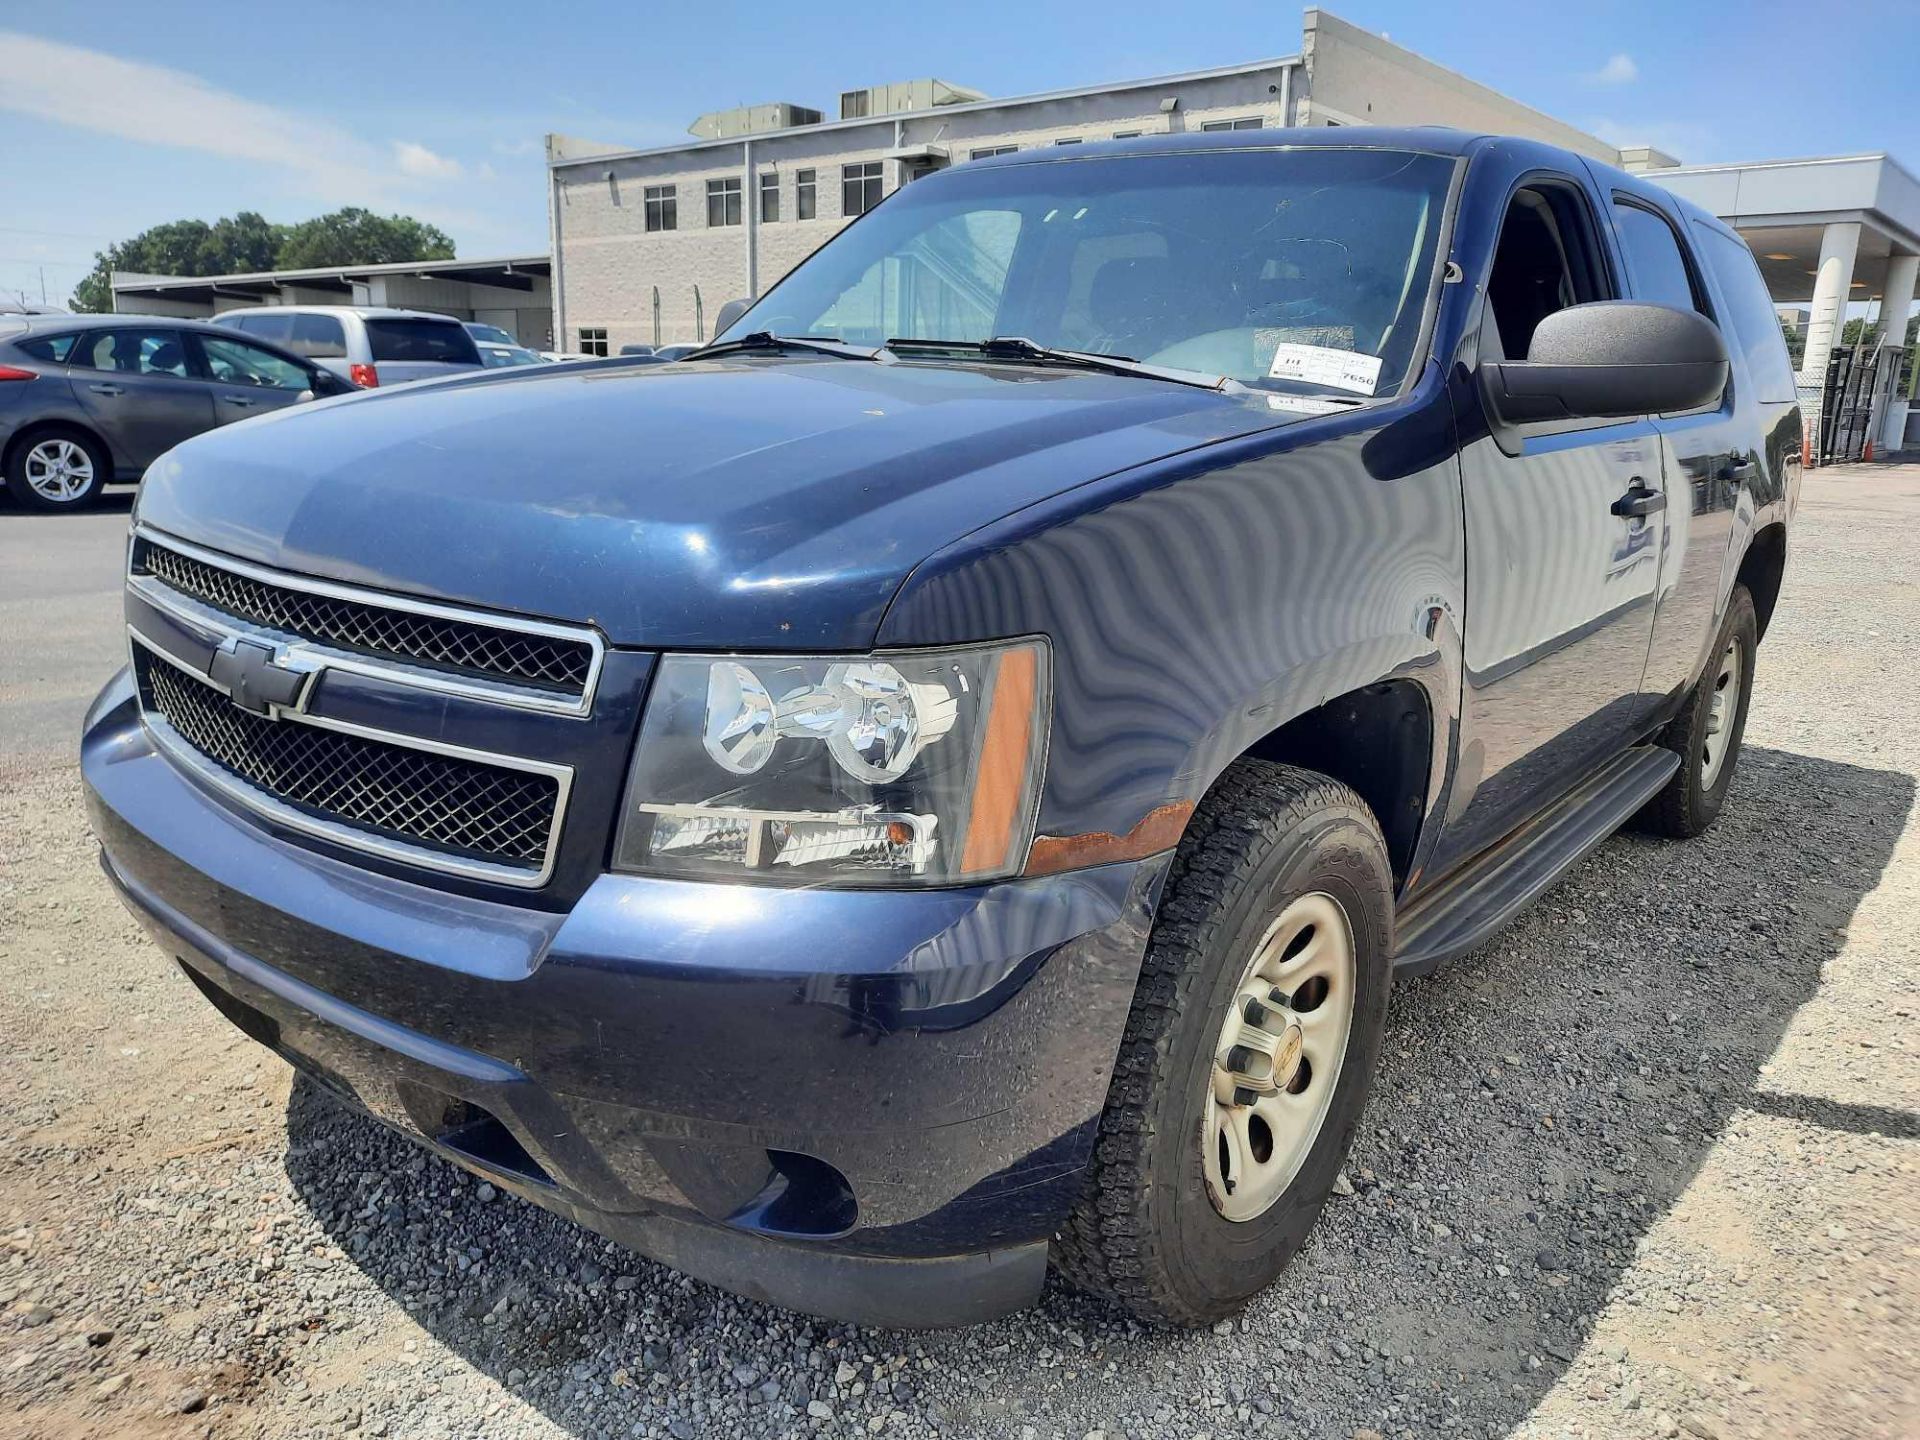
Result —
[[[1565, 1373], [1728, 1119], [1778, 1110], [1755, 1092], [1759, 1069], [1912, 804], [1905, 774], [1749, 749], [1709, 835], [1617, 837], [1494, 943], [1398, 987], [1348, 1165], [1356, 1194], [1329, 1204], [1231, 1334], [1150, 1331], [1058, 1283], [1035, 1311], [972, 1331], [810, 1321], [516, 1200], [482, 1204], [451, 1167], [305, 1085], [288, 1106], [288, 1173], [420, 1325], [582, 1436], [664, 1428], [687, 1411], [653, 1404], [689, 1390], [703, 1423], [674, 1434], [804, 1428], [808, 1398], [837, 1423], [924, 1411], [943, 1434], [1238, 1434], [1238, 1405], [1281, 1434], [1498, 1434]], [[1845, 1106], [1812, 1119], [1912, 1127]], [[371, 1188], [403, 1217], [401, 1240], [371, 1235]], [[887, 1394], [852, 1398], [833, 1354], [912, 1359]], [[739, 1365], [778, 1394], [732, 1384]], [[1398, 1413], [1382, 1421], [1388, 1394]]]

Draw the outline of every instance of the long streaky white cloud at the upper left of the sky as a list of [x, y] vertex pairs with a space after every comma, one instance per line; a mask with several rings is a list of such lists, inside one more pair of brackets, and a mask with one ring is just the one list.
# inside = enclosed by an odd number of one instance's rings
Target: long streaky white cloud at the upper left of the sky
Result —
[[[77, 106], [77, 94], [111, 102]], [[248, 100], [186, 71], [4, 29], [0, 111], [267, 165], [294, 192], [326, 204], [396, 204], [419, 180], [461, 175], [459, 161], [411, 140], [382, 150], [330, 121]]]

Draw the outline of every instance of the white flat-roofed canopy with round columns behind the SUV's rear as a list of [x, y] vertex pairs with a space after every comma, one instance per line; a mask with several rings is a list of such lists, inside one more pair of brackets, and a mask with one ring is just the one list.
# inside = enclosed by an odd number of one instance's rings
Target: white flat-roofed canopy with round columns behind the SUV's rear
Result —
[[[1920, 180], [1891, 156], [1678, 165], [1647, 179], [1740, 230], [1776, 305], [1807, 307], [1803, 396], [1818, 399], [1849, 305], [1862, 309], [1882, 348], [1905, 346], [1920, 271]], [[1876, 407], [1868, 434], [1882, 451], [1901, 447], [1908, 399], [1893, 394]]]

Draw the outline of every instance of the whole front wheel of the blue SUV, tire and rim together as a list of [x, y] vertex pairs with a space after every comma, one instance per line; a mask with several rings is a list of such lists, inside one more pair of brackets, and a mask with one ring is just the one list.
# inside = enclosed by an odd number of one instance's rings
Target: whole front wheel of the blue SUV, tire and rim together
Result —
[[1240, 760], [1173, 860], [1094, 1160], [1054, 1263], [1135, 1315], [1206, 1325], [1319, 1215], [1373, 1081], [1392, 870], [1367, 804]]

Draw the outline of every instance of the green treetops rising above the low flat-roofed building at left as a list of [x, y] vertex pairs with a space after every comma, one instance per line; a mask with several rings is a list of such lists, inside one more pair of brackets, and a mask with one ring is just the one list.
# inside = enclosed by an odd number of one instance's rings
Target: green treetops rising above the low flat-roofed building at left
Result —
[[374, 215], [355, 205], [298, 225], [273, 225], [244, 209], [211, 225], [169, 221], [108, 246], [94, 255], [94, 269], [73, 288], [73, 309], [113, 309], [113, 271], [248, 275], [405, 259], [453, 259], [453, 242], [444, 230], [411, 215]]

